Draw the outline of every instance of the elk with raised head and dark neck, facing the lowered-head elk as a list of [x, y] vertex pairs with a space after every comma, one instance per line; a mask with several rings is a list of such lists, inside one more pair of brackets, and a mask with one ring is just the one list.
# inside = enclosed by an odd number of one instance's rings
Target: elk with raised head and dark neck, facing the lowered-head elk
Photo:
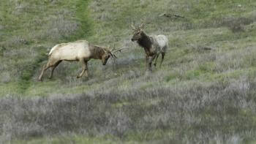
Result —
[[162, 61], [164, 60], [165, 53], [168, 47], [168, 39], [165, 35], [157, 35], [157, 36], [148, 36], [143, 28], [146, 23], [143, 23], [137, 29], [132, 25], [132, 30], [134, 32], [132, 37], [132, 42], [137, 41], [140, 47], [144, 48], [146, 53], [146, 68], [149, 71], [152, 71], [152, 61], [154, 61], [154, 66], [157, 67], [157, 58], [159, 53], [162, 54], [162, 60], [160, 66], [162, 66]]

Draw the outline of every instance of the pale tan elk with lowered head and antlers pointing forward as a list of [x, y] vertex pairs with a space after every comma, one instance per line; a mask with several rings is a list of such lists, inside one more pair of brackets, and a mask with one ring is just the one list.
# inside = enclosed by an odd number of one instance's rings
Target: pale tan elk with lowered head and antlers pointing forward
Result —
[[76, 42], [62, 43], [55, 45], [48, 54], [48, 63], [44, 65], [42, 68], [41, 75], [39, 75], [38, 80], [42, 81], [42, 75], [45, 70], [52, 67], [50, 72], [50, 77], [53, 77], [54, 69], [61, 63], [61, 61], [80, 61], [83, 64], [83, 71], [77, 78], [82, 77], [84, 73], [86, 73], [86, 77], [88, 77], [88, 67], [87, 62], [91, 59], [100, 59], [102, 60], [102, 65], [107, 64], [108, 58], [110, 56], [116, 58], [116, 53], [119, 50], [110, 50], [108, 48], [100, 47], [97, 45], [91, 45], [86, 40], [80, 40]]

